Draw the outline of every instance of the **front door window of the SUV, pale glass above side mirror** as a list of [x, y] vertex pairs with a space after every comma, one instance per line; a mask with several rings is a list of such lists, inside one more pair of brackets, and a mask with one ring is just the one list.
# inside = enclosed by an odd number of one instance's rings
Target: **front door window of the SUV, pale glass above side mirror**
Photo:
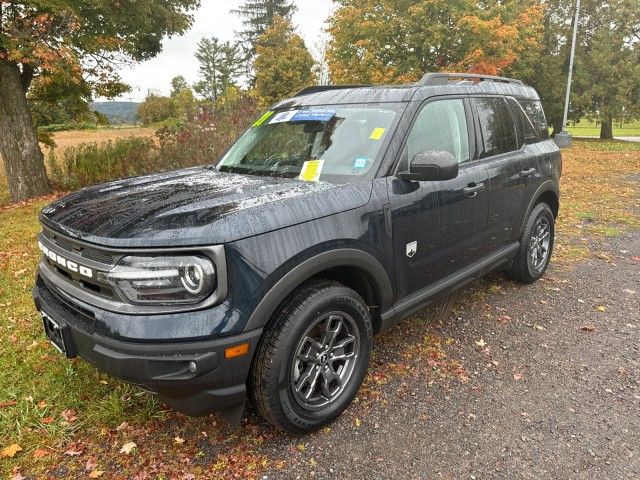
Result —
[[423, 151], [449, 152], [458, 163], [469, 160], [469, 131], [462, 99], [436, 100], [418, 114], [403, 159]]

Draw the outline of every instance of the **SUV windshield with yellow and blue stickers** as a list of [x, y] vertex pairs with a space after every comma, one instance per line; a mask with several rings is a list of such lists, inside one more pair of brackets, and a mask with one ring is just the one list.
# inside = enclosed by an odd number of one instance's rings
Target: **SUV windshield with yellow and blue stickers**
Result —
[[375, 174], [393, 107], [336, 106], [265, 113], [218, 164], [221, 172], [349, 182]]

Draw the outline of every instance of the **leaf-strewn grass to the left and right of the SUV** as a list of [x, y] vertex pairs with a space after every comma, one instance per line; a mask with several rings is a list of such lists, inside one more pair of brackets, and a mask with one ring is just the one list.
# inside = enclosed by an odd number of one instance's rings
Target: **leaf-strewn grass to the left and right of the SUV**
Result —
[[[68, 133], [65, 141], [86, 141], [87, 133]], [[571, 268], [595, 255], [582, 240], [587, 235], [640, 228], [638, 172], [640, 144], [576, 141], [564, 153], [555, 262]], [[0, 198], [7, 198], [3, 179]], [[199, 478], [204, 472], [255, 478], [266, 465], [278, 468], [282, 460], [266, 456], [261, 445], [279, 434], [255, 417], [236, 432], [215, 417], [184, 417], [80, 359], [63, 360], [44, 339], [30, 290], [39, 257], [37, 215], [54, 198], [0, 206], [0, 478], [52, 472], [64, 478], [131, 478], [142, 471], [148, 478]], [[408, 325], [401, 328], [418, 328]], [[428, 350], [412, 354], [433, 357], [444, 340], [431, 340]], [[376, 382], [401, 369], [400, 363], [376, 362], [362, 401], [375, 396]], [[461, 375], [459, 370], [451, 365], [442, 374]], [[221, 445], [213, 458], [203, 439]], [[123, 450], [127, 445], [129, 453]]]

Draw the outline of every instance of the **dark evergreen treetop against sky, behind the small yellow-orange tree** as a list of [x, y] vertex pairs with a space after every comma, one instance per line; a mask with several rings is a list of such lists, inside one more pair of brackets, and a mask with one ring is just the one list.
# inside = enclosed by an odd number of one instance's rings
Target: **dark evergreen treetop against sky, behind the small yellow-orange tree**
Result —
[[296, 6], [288, 0], [246, 0], [232, 12], [242, 17], [244, 30], [238, 33], [251, 61], [256, 51], [258, 38], [273, 24], [276, 17], [291, 20]]

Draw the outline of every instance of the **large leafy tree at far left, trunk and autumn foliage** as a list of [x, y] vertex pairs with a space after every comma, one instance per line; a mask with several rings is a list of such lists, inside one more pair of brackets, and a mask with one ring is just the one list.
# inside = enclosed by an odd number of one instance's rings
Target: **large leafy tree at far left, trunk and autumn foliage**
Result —
[[50, 191], [26, 94], [35, 77], [66, 75], [112, 97], [122, 62], [152, 58], [191, 25], [199, 0], [0, 2], [0, 155], [14, 201]]

